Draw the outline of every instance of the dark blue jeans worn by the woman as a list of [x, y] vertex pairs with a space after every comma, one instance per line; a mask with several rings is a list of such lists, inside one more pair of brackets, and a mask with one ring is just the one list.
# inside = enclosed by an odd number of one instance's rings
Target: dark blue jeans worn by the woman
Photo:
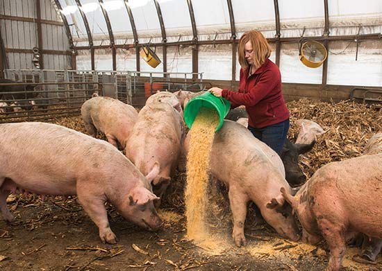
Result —
[[253, 128], [248, 126], [248, 130], [254, 134], [256, 139], [263, 141], [280, 156], [289, 130], [289, 119], [264, 128]]

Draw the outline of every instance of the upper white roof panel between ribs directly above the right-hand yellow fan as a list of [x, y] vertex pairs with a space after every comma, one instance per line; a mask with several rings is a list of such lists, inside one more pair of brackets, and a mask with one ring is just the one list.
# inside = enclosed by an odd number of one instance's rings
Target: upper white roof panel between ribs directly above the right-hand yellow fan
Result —
[[304, 37], [322, 35], [325, 25], [322, 0], [279, 0], [279, 14], [281, 37], [300, 37], [304, 27]]

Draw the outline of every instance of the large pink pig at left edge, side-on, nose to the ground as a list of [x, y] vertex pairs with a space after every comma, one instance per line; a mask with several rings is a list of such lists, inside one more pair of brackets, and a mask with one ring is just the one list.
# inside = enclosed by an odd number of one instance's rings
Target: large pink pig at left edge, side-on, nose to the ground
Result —
[[153, 207], [158, 200], [150, 181], [158, 175], [153, 165], [146, 177], [106, 141], [50, 123], [0, 124], [0, 209], [4, 220], [12, 191], [39, 195], [78, 195], [99, 227], [103, 242], [116, 243], [105, 202], [126, 219], [145, 229], [158, 229], [161, 220]]

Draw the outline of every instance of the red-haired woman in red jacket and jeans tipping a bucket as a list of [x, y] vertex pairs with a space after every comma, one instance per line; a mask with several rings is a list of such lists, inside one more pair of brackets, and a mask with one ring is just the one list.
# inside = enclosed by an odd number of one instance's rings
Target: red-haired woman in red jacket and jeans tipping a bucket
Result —
[[231, 108], [245, 105], [248, 129], [257, 139], [281, 155], [289, 130], [289, 111], [281, 92], [279, 67], [269, 60], [271, 48], [260, 32], [244, 33], [239, 42], [240, 84], [238, 92], [212, 87], [217, 97], [231, 101]]

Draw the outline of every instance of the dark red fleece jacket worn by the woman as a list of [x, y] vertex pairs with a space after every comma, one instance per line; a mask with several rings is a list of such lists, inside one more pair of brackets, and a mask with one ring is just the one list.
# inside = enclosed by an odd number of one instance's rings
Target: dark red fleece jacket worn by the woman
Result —
[[281, 73], [274, 62], [264, 64], [248, 77], [249, 69], [240, 69], [238, 92], [223, 89], [222, 96], [231, 101], [231, 108], [245, 105], [249, 115], [248, 125], [254, 128], [279, 123], [289, 119], [289, 111], [281, 92]]

